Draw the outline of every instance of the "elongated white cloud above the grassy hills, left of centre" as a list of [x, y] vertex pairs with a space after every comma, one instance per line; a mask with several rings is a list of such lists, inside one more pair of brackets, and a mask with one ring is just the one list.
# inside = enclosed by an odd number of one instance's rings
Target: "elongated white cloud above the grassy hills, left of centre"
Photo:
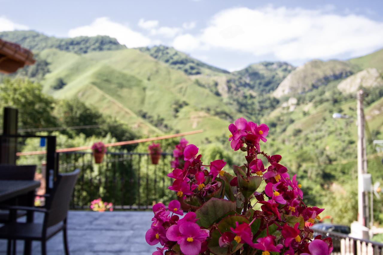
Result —
[[68, 35], [69, 37], [97, 35], [110, 36], [116, 38], [120, 44], [125, 44], [126, 47], [129, 48], [143, 47], [157, 43], [152, 41], [149, 37], [133, 31], [128, 26], [111, 21], [108, 17], [97, 18], [88, 26], [70, 29]]

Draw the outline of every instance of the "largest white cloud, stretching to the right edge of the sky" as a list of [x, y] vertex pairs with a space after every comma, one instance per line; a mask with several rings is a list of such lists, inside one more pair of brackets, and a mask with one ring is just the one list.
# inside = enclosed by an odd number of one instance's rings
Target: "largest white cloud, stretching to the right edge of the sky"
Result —
[[174, 47], [190, 52], [221, 48], [285, 61], [363, 55], [383, 47], [383, 23], [365, 16], [267, 6], [231, 8], [214, 15], [200, 34], [175, 37]]

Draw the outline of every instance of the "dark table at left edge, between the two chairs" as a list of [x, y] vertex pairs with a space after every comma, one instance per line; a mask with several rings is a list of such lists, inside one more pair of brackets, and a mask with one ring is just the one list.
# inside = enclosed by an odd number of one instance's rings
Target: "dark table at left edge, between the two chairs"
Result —
[[[38, 187], [40, 182], [35, 180], [0, 180], [0, 203], [20, 195], [28, 195], [31, 204], [27, 206], [34, 206], [34, 190]], [[26, 222], [33, 222], [33, 211], [27, 212]], [[31, 254], [31, 247], [31, 241], [25, 241], [24, 255]]]

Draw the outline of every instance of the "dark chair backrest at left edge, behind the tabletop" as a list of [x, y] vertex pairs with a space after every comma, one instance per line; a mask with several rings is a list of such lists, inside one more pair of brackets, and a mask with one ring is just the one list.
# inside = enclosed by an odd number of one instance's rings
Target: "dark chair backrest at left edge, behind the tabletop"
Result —
[[0, 164], [0, 180], [33, 180], [36, 165]]

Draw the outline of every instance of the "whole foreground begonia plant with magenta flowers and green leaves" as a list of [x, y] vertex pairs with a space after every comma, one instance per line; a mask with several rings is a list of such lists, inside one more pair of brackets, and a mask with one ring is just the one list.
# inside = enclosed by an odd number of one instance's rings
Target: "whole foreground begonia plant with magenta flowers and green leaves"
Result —
[[[185, 146], [184, 166], [168, 176], [174, 179], [169, 189], [188, 205], [188, 213], [182, 219], [173, 215], [180, 211], [177, 200], [168, 208], [153, 206], [146, 240], [163, 245], [153, 254], [330, 254], [331, 238], [314, 239], [309, 229], [324, 209], [304, 204], [302, 186], [280, 164], [282, 156], [260, 150], [267, 125], [240, 118], [229, 131], [231, 148], [246, 153], [246, 163], [233, 166], [231, 175], [223, 170], [223, 160], [204, 165], [198, 147]], [[262, 182], [265, 188], [258, 190]]]

